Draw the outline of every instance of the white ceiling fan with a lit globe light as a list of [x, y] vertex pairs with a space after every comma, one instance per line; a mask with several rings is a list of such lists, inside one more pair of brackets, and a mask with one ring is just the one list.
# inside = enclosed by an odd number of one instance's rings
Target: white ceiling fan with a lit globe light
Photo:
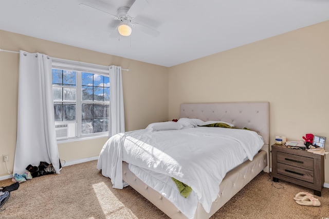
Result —
[[[133, 5], [130, 7], [119, 7], [117, 9], [117, 15], [109, 13], [108, 11], [106, 11], [106, 9], [103, 9], [103, 7], [92, 4], [91, 2], [80, 3], [79, 6], [87, 6], [89, 8], [93, 8], [111, 15], [112, 19], [117, 21], [118, 23], [116, 25], [116, 28], [111, 33], [112, 36], [117, 35], [118, 33], [122, 36], [129, 36], [132, 33], [132, 28], [140, 29], [141, 31], [155, 37], [160, 34], [159, 31], [151, 27], [139, 23], [132, 23], [132, 21], [138, 16], [138, 14], [149, 6], [148, 0], [135, 0]], [[116, 29], [118, 31], [116, 31]]]

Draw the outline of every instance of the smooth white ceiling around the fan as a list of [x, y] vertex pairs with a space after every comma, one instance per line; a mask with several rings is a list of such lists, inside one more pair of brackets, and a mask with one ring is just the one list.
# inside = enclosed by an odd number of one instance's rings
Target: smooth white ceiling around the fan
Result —
[[139, 29], [110, 37], [112, 16], [79, 5], [116, 15], [134, 0], [0, 0], [0, 29], [170, 67], [329, 20], [327, 0], [147, 1], [133, 21], [157, 37]]

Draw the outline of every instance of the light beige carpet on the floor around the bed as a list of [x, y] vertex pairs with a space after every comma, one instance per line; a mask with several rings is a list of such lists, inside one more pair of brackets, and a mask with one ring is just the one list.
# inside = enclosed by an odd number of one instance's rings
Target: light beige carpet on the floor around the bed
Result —
[[[111, 179], [96, 169], [97, 161], [63, 167], [61, 174], [35, 177], [11, 192], [0, 218], [169, 218], [131, 187], [113, 189]], [[0, 186], [12, 184], [11, 179]], [[329, 189], [320, 207], [301, 206], [293, 197], [311, 192], [288, 182], [273, 182], [260, 173], [211, 218], [329, 217]]]

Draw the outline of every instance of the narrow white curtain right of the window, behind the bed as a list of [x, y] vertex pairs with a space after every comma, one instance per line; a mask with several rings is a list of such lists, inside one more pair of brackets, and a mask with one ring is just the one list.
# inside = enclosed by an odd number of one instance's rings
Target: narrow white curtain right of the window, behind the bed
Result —
[[109, 127], [108, 137], [124, 132], [124, 108], [121, 67], [111, 65], [109, 69]]

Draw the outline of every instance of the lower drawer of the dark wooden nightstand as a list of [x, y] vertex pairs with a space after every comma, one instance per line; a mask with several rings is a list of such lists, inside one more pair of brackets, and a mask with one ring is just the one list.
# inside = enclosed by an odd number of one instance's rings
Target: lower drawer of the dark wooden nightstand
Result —
[[278, 163], [277, 173], [285, 176], [293, 177], [310, 183], [314, 182], [314, 172], [310, 170], [305, 170], [298, 167], [293, 167], [290, 165], [285, 165], [283, 163]]

